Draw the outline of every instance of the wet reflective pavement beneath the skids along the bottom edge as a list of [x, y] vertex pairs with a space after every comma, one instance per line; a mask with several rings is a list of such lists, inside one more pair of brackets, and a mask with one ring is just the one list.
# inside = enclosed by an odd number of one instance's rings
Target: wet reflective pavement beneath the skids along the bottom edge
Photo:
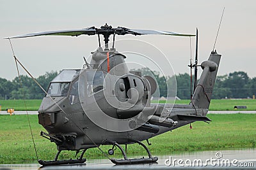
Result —
[[108, 159], [86, 160], [83, 165], [47, 166], [39, 164], [0, 165], [0, 169], [175, 169], [175, 168], [243, 168], [256, 169], [256, 148], [246, 150], [222, 150], [207, 152], [186, 152], [158, 155], [157, 164], [115, 166]]

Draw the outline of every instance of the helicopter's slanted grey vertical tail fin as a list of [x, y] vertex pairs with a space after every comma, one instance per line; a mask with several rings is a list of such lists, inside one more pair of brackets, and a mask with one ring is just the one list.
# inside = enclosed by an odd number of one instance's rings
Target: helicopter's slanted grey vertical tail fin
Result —
[[201, 64], [203, 72], [191, 99], [191, 103], [197, 108], [209, 108], [220, 58], [221, 55], [215, 50], [215, 52], [211, 52], [209, 59]]

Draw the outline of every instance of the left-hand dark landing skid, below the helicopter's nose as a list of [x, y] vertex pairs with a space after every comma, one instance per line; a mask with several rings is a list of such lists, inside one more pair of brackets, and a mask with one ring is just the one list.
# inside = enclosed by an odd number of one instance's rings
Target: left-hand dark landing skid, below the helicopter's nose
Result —
[[79, 159], [69, 159], [69, 160], [58, 160], [61, 150], [58, 151], [54, 160], [38, 160], [38, 163], [42, 166], [58, 166], [58, 165], [65, 165], [65, 164], [84, 164], [86, 159], [83, 159], [84, 152], [83, 150]]

